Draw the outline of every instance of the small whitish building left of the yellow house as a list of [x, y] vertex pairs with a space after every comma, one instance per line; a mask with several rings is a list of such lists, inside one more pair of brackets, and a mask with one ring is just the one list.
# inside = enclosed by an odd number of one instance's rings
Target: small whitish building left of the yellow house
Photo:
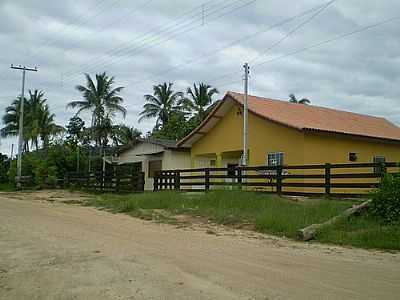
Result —
[[191, 167], [190, 149], [178, 147], [176, 141], [165, 139], [139, 139], [119, 152], [118, 165], [140, 164], [144, 172], [146, 191], [153, 190], [154, 175], [161, 170], [189, 169]]

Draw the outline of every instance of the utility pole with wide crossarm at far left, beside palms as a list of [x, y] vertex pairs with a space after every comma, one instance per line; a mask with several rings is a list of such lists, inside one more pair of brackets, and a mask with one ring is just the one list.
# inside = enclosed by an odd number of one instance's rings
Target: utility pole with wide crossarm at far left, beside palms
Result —
[[11, 64], [11, 69], [22, 70], [22, 92], [21, 105], [19, 112], [19, 127], [18, 127], [18, 160], [17, 160], [17, 186], [21, 187], [21, 170], [22, 170], [22, 147], [24, 143], [24, 100], [25, 100], [25, 73], [26, 71], [37, 72], [37, 68], [27, 68], [25, 66], [14, 66]]

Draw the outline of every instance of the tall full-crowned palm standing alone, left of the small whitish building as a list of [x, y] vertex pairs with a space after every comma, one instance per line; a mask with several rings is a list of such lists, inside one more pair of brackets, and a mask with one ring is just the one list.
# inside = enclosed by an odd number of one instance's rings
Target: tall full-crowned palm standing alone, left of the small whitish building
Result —
[[83, 111], [91, 112], [92, 132], [98, 145], [107, 145], [107, 135], [104, 130], [111, 130], [112, 119], [116, 113], [126, 116], [126, 109], [122, 106], [123, 99], [119, 94], [123, 87], [113, 88], [114, 77], [105, 72], [96, 74], [96, 83], [90, 75], [85, 74], [86, 86], [78, 85], [76, 89], [82, 94], [83, 100], [68, 103], [67, 107], [78, 108], [76, 115]]

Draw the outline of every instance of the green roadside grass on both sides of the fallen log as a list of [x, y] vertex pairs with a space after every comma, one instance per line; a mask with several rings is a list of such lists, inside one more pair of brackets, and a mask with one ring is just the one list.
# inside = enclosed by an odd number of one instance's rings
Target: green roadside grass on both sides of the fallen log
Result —
[[[241, 191], [181, 194], [170, 191], [130, 195], [98, 195], [88, 205], [144, 219], [173, 223], [173, 215], [206, 217], [216, 223], [254, 224], [263, 233], [295, 238], [298, 229], [321, 223], [354, 204], [353, 201], [315, 199], [295, 202], [276, 195]], [[162, 210], [168, 214], [156, 214]], [[360, 248], [400, 250], [400, 224], [383, 224], [365, 215], [340, 220], [317, 234], [317, 241]]]

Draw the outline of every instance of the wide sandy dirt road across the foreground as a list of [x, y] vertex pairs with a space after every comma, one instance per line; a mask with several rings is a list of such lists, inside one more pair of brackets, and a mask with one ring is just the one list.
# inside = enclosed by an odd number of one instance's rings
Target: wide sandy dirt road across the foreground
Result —
[[19, 198], [0, 194], [0, 299], [399, 299], [399, 254]]

